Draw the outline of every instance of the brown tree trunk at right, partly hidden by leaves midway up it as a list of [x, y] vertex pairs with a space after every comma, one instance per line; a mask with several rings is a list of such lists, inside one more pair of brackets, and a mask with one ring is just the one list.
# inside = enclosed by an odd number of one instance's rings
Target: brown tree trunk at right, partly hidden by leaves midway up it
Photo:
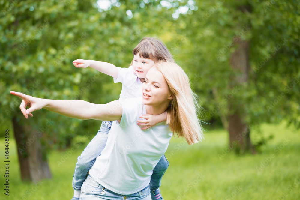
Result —
[[[231, 55], [230, 64], [232, 69], [238, 75], [232, 78], [231, 87], [238, 87], [245, 82], [248, 82], [249, 71], [249, 41], [241, 40], [235, 42], [237, 49]], [[235, 98], [229, 100], [230, 115], [229, 121], [229, 140], [230, 144], [236, 142], [236, 151], [244, 153], [255, 153], [255, 149], [250, 140], [250, 127], [244, 122], [244, 105], [235, 102]]]

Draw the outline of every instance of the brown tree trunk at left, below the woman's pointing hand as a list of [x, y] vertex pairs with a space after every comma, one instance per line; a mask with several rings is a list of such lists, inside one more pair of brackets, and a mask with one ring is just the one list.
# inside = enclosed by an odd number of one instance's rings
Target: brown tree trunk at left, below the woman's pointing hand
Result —
[[[24, 118], [25, 119], [25, 118]], [[43, 178], [51, 178], [46, 154], [41, 148], [37, 130], [24, 122], [23, 117], [12, 119], [21, 170], [21, 180], [37, 182]]]

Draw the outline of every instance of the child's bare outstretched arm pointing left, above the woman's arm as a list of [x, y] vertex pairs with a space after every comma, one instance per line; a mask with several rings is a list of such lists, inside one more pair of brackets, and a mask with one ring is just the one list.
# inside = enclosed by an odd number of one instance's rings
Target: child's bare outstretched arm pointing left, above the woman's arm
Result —
[[91, 67], [95, 70], [98, 70], [101, 73], [105, 73], [109, 76], [112, 76], [115, 79], [118, 78], [118, 74], [119, 74], [117, 67], [108, 62], [77, 59], [73, 61], [73, 65], [75, 67], [81, 67], [81, 68]]

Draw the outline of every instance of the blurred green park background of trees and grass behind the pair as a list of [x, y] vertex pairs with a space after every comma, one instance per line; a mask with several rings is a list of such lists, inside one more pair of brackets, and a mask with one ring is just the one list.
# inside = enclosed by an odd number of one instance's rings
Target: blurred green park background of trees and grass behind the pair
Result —
[[166, 44], [203, 106], [206, 139], [170, 142], [164, 198], [300, 199], [299, 0], [2, 0], [0, 7], [0, 199], [71, 199], [76, 158], [101, 125], [46, 110], [26, 120], [9, 91], [116, 100], [121, 84], [72, 61], [128, 67], [143, 37]]

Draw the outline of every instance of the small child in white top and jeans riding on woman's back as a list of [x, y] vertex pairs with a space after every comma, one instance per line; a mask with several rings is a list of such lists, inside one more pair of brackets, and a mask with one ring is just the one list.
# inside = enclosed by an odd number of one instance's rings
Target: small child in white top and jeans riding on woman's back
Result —
[[[83, 59], [77, 59], [73, 61], [73, 64], [75, 67], [91, 67], [100, 71], [101, 73], [112, 76], [114, 78], [114, 82], [121, 82], [122, 91], [119, 100], [124, 101], [128, 98], [141, 96], [141, 87], [145, 80], [145, 76], [155, 62], [174, 61], [167, 47], [156, 38], [143, 38], [134, 48], [133, 54], [134, 59], [129, 68], [120, 68], [106, 62]], [[144, 118], [145, 120], [138, 120], [137, 124], [144, 126], [142, 129], [147, 129], [155, 124], [166, 121], [167, 114], [143, 115], [140, 116], [140, 118]], [[73, 176], [74, 196], [72, 200], [79, 199], [81, 186], [88, 175], [88, 171], [95, 162], [96, 157], [101, 154], [101, 151], [106, 145], [111, 125], [112, 121], [103, 121], [97, 135], [91, 140], [88, 146], [78, 157]], [[126, 154], [127, 150], [128, 149], [124, 148], [123, 153]], [[163, 155], [153, 170], [153, 174], [151, 176], [150, 189], [152, 200], [163, 200], [159, 187], [161, 184], [161, 178], [166, 172], [168, 166], [169, 162]]]

